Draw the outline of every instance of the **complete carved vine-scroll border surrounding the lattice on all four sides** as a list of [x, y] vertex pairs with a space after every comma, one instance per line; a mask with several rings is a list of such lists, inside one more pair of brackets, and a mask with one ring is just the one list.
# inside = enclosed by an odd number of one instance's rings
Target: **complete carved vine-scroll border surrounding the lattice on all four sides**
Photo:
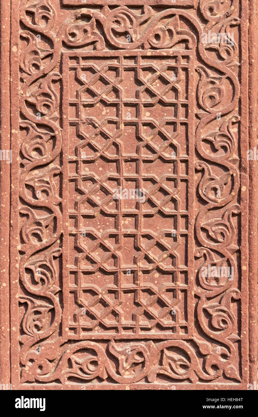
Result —
[[[239, 82], [234, 72], [238, 47], [233, 39], [230, 44], [221, 40], [215, 45], [205, 44], [201, 38], [203, 32], [228, 33], [238, 25], [239, 19], [234, 17], [237, 5], [233, 0], [200, 0], [201, 20], [196, 12], [175, 8], [157, 12], [148, 5], [139, 13], [125, 6], [105, 6], [99, 11], [81, 8], [71, 10], [57, 30], [58, 10], [50, 0], [21, 1], [19, 301], [25, 306], [20, 337], [21, 382], [241, 381], [235, 366], [240, 338], [234, 307], [240, 299], [235, 256], [238, 246], [234, 243], [234, 219], [240, 212], [239, 116], [235, 113]], [[185, 29], [184, 21], [193, 31]], [[196, 66], [195, 168], [202, 203], [195, 218], [198, 329], [191, 340], [130, 340], [125, 344], [114, 340], [69, 342], [60, 337], [62, 132], [58, 70], [62, 51], [83, 48], [125, 53], [180, 48], [196, 50], [200, 56]], [[202, 267], [208, 265], [234, 268], [233, 280], [203, 277]]]

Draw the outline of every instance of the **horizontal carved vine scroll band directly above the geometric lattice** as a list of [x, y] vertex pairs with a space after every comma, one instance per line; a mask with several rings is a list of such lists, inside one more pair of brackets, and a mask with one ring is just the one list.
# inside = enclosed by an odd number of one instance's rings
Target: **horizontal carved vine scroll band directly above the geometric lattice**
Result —
[[[142, 15], [134, 13], [125, 6], [114, 10], [104, 7], [101, 13], [81, 9], [63, 25], [64, 41], [70, 47], [83, 47], [94, 43], [96, 50], [103, 50], [106, 42], [121, 49], [135, 49], [141, 45], [144, 49], [151, 47], [164, 49], [172, 48], [182, 42], [188, 43], [189, 49], [192, 48], [194, 37], [189, 30], [180, 29], [178, 15], [169, 13], [169, 10], [160, 12], [154, 17], [153, 15], [150, 6], [144, 6]], [[89, 23], [85, 23], [85, 18], [90, 20]], [[170, 19], [163, 24], [162, 20], [165, 18]], [[97, 30], [96, 21], [102, 25], [105, 39]], [[148, 23], [146, 27], [145, 23]]]

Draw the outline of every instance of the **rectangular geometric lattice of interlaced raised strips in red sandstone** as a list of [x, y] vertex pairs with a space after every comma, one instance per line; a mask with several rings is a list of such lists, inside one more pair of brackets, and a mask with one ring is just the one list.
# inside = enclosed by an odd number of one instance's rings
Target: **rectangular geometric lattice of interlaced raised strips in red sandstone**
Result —
[[[187, 337], [191, 55], [96, 55], [69, 57], [63, 97], [69, 106], [66, 331], [74, 338]], [[144, 189], [145, 201], [115, 201], [119, 187]]]

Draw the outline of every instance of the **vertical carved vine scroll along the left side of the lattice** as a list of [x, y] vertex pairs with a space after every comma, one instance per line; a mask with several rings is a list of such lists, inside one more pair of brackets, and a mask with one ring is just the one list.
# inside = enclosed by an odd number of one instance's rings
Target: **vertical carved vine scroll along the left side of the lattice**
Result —
[[[20, 215], [26, 220], [21, 229], [19, 272], [20, 280], [30, 294], [20, 299], [26, 305], [20, 352], [24, 364], [28, 349], [53, 334], [60, 322], [61, 309], [56, 296], [60, 288], [56, 285], [55, 259], [61, 253], [58, 239], [62, 231], [61, 200], [56, 182], [61, 171], [56, 158], [60, 154], [62, 137], [56, 122], [58, 94], [53, 88], [53, 82], [61, 77], [53, 71], [59, 59], [60, 41], [51, 30], [56, 14], [48, 0], [27, 3], [26, 0], [20, 3], [20, 19], [28, 28], [20, 33], [21, 40], [28, 41], [27, 48], [21, 53], [23, 85], [20, 90], [20, 109], [25, 119], [20, 121], [21, 131], [25, 130], [21, 145], [20, 198], [23, 206]], [[41, 43], [36, 35], [47, 38], [53, 48], [38, 46]]]

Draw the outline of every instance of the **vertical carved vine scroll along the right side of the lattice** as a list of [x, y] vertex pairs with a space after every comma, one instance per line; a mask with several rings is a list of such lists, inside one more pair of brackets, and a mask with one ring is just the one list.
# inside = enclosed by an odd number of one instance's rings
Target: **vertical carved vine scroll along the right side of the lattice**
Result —
[[[229, 8], [230, 3], [232, 6]], [[226, 6], [226, 8], [225, 8]], [[236, 10], [236, 2], [224, 1], [203, 1], [199, 3], [203, 17], [208, 20], [205, 30], [216, 29], [216, 33], [221, 31], [228, 32], [228, 26], [237, 25], [238, 19], [231, 19], [229, 16]], [[228, 58], [225, 58], [225, 48]], [[211, 75], [210, 70], [199, 65], [196, 70], [200, 75], [198, 83], [198, 101], [202, 110], [199, 112], [200, 123], [196, 129], [196, 149], [202, 160], [195, 163], [197, 171], [202, 171], [202, 178], [198, 185], [198, 193], [205, 201], [205, 205], [200, 209], [195, 219], [195, 232], [201, 247], [195, 249], [196, 258], [203, 257], [204, 262], [198, 269], [198, 281], [200, 286], [195, 290], [195, 294], [200, 297], [197, 305], [197, 317], [203, 332], [219, 344], [223, 344], [223, 351], [213, 352], [209, 356], [209, 366], [215, 363], [222, 366], [223, 355], [227, 357], [224, 363], [224, 375], [231, 379], [240, 381], [238, 370], [231, 363], [236, 354], [233, 344], [240, 338], [234, 334], [237, 329], [235, 314], [232, 310], [232, 301], [240, 299], [240, 292], [237, 289], [236, 277], [232, 280], [221, 279], [221, 277], [207, 278], [201, 274], [203, 266], [225, 266], [237, 270], [235, 257], [233, 254], [238, 250], [238, 246], [232, 244], [235, 241], [236, 230], [232, 216], [239, 214], [240, 207], [236, 203], [239, 190], [239, 171], [237, 157], [237, 140], [233, 132], [233, 123], [236, 125], [239, 116], [234, 113], [238, 106], [239, 82], [230, 65], [235, 59], [237, 47], [217, 45], [219, 58], [212, 59], [212, 67], [221, 71], [221, 75]], [[210, 49], [210, 45], [204, 45], [205, 51]], [[206, 60], [207, 62], [207, 60]], [[210, 62], [208, 62], [210, 64]], [[230, 80], [233, 85], [232, 100], [225, 102], [225, 82]], [[221, 125], [216, 131], [209, 131], [203, 135], [205, 128], [216, 120], [220, 115]], [[227, 117], [225, 117], [227, 116]], [[207, 128], [206, 128], [207, 130]], [[237, 130], [237, 129], [235, 129]], [[208, 143], [210, 150], [204, 146]], [[218, 177], [213, 174], [213, 166], [220, 166], [224, 173]], [[208, 214], [212, 213], [212, 218]], [[213, 300], [220, 296], [219, 301]], [[208, 312], [211, 317], [211, 326], [205, 322], [203, 311]], [[207, 364], [207, 362], [206, 362]]]

